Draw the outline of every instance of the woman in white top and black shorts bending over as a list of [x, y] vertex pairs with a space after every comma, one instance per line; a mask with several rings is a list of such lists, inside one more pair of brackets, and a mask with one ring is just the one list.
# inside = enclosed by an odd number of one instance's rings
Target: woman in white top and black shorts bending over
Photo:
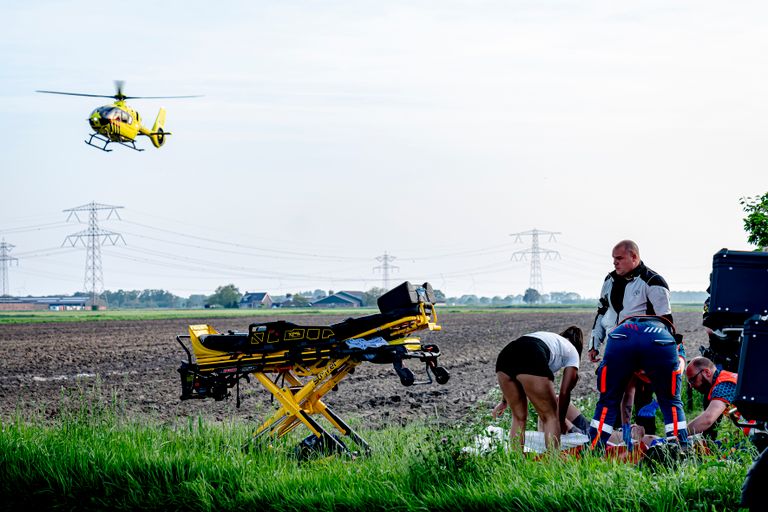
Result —
[[[509, 435], [513, 444], [522, 449], [525, 443], [525, 423], [528, 400], [544, 426], [548, 448], [559, 448], [560, 434], [565, 433], [565, 416], [571, 403], [571, 391], [579, 380], [579, 360], [584, 333], [575, 325], [560, 334], [533, 332], [504, 347], [496, 359], [496, 377], [503, 397], [493, 409], [493, 417], [509, 407], [512, 427]], [[560, 396], [555, 396], [555, 372], [563, 370]]]

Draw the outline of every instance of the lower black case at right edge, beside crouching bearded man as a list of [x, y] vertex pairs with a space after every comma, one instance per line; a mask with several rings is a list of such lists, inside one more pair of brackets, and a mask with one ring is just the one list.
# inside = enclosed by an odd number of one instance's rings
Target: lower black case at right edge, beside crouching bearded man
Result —
[[768, 421], [768, 316], [746, 321], [739, 359], [733, 403], [746, 419]]

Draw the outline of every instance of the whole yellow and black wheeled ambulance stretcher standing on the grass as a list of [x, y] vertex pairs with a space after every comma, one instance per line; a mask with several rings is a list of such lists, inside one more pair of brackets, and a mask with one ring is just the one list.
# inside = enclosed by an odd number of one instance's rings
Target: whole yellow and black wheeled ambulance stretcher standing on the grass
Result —
[[[181, 399], [223, 400], [234, 387], [239, 407], [240, 380], [253, 375], [280, 403], [255, 437], [280, 437], [304, 424], [311, 432], [305, 447], [349, 453], [338, 436], [313, 418], [319, 415], [367, 452], [368, 444], [322, 398], [363, 362], [392, 364], [404, 386], [431, 383], [432, 375], [439, 384], [448, 382], [450, 374], [437, 365], [437, 345], [424, 345], [411, 336], [422, 329], [440, 330], [434, 301], [429, 283], [414, 286], [406, 281], [379, 298], [381, 313], [338, 324], [297, 325], [279, 320], [226, 334], [210, 325], [190, 325], [189, 335], [176, 337], [187, 354], [178, 370]], [[406, 359], [426, 364], [426, 381], [415, 382], [403, 365]]]

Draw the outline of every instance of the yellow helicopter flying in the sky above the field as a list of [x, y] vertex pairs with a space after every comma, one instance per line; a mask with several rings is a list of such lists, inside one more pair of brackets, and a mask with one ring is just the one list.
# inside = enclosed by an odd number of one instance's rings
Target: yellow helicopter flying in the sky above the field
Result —
[[[36, 91], [45, 94], [64, 94], [67, 96], [87, 96], [90, 98], [114, 98], [116, 101], [111, 105], [104, 105], [96, 108], [88, 117], [88, 123], [93, 129], [93, 133], [85, 141], [89, 146], [93, 146], [102, 151], [112, 151], [107, 146], [113, 142], [122, 146], [131, 148], [135, 151], [144, 151], [136, 147], [136, 137], [145, 135], [152, 141], [152, 145], [159, 148], [165, 143], [165, 137], [171, 135], [164, 130], [165, 109], [160, 108], [157, 114], [155, 124], [152, 129], [147, 129], [141, 124], [139, 113], [128, 106], [125, 100], [128, 99], [166, 99], [166, 98], [197, 98], [199, 96], [126, 96], [123, 94], [123, 84], [121, 80], [115, 81], [116, 93], [113, 96], [103, 94], [82, 94], [76, 92], [60, 91]], [[94, 139], [101, 144], [94, 144]]]

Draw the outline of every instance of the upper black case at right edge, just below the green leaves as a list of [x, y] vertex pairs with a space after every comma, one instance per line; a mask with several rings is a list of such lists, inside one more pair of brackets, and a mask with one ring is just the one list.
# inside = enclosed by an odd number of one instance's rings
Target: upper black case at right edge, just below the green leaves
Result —
[[707, 327], [740, 327], [753, 315], [768, 315], [768, 252], [718, 251], [709, 288]]

